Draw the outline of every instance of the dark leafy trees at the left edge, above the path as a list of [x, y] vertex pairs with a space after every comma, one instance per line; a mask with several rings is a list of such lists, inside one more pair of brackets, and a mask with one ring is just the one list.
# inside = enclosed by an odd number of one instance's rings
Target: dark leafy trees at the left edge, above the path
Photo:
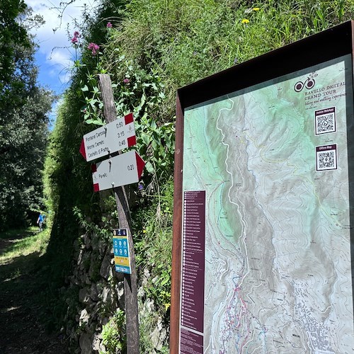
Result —
[[35, 222], [42, 204], [48, 112], [54, 97], [38, 86], [35, 44], [41, 23], [23, 1], [0, 4], [0, 230]]

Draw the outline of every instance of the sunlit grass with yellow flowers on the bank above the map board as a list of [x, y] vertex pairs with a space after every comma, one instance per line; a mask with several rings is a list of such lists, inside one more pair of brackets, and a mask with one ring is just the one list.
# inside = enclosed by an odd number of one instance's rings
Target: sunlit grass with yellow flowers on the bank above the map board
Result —
[[173, 120], [178, 87], [354, 16], [353, 0], [132, 0], [126, 11], [103, 64], [117, 82], [124, 79], [117, 53], [158, 73], [165, 121]]

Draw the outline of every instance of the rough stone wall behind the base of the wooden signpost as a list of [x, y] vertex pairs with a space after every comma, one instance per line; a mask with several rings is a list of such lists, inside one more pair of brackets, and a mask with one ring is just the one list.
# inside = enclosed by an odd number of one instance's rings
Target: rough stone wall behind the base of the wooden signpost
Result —
[[[65, 332], [70, 348], [72, 353], [108, 353], [102, 330], [117, 309], [124, 310], [123, 275], [114, 270], [111, 242], [101, 236], [86, 232], [75, 241], [74, 249], [72, 275], [64, 290], [68, 305]], [[142, 279], [138, 280], [139, 321], [151, 318], [154, 312], [153, 300], [144, 296], [144, 284], [153, 280], [148, 270], [142, 273]], [[159, 353], [166, 346], [169, 329], [159, 317], [153, 322], [148, 335], [154, 348], [151, 353]]]

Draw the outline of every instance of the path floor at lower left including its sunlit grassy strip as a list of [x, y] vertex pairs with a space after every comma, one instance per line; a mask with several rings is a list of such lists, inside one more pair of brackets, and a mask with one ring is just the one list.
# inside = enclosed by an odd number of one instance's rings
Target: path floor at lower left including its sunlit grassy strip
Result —
[[48, 282], [42, 257], [50, 232], [38, 227], [0, 233], [1, 341], [16, 353], [24, 347], [45, 353], [50, 345], [56, 353], [67, 353], [65, 345], [47, 333], [45, 290]]

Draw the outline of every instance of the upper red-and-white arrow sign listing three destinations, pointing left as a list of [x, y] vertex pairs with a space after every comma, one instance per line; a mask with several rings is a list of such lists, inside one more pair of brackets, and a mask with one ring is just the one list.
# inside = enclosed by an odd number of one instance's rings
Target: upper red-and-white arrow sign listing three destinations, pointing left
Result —
[[118, 152], [137, 143], [132, 113], [84, 135], [80, 152], [86, 161]]

